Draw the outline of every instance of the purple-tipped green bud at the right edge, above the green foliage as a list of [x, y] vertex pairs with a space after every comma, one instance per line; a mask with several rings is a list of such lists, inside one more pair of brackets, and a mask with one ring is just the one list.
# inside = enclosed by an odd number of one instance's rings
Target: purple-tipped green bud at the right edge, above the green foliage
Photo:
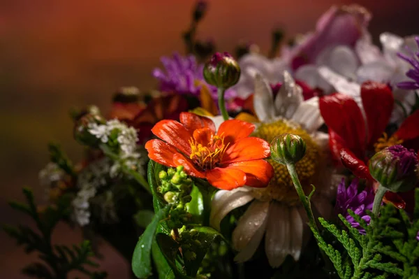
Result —
[[402, 145], [377, 152], [369, 161], [369, 172], [391, 192], [406, 192], [419, 182], [418, 155]]

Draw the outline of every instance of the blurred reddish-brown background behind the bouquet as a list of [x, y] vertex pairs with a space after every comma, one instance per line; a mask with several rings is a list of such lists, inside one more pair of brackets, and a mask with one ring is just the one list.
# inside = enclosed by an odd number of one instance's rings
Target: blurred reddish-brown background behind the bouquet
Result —
[[[190, 22], [193, 0], [0, 0], [0, 222], [25, 222], [8, 208], [22, 199], [22, 186], [34, 187], [47, 163], [46, 144], [59, 141], [72, 159], [80, 159], [68, 117], [71, 106], [96, 103], [108, 110], [122, 85], [149, 89], [159, 57], [184, 50], [181, 33]], [[288, 36], [314, 29], [332, 0], [210, 0], [198, 37], [214, 38], [218, 50], [232, 51], [242, 39], [270, 46], [273, 27]], [[418, 34], [418, 0], [360, 0], [374, 14], [370, 30]], [[80, 241], [65, 224], [54, 240]], [[24, 278], [20, 268], [36, 256], [24, 255], [0, 232], [0, 278]], [[127, 278], [128, 266], [103, 245], [103, 269], [109, 278]]]

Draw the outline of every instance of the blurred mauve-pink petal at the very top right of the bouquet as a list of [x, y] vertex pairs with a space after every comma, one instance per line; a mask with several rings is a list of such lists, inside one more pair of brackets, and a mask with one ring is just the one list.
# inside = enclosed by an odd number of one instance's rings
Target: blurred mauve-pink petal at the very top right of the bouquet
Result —
[[371, 14], [362, 6], [332, 6], [316, 24], [316, 30], [293, 50], [292, 66], [296, 70], [304, 64], [316, 61], [318, 55], [326, 48], [337, 45], [355, 46], [362, 37]]

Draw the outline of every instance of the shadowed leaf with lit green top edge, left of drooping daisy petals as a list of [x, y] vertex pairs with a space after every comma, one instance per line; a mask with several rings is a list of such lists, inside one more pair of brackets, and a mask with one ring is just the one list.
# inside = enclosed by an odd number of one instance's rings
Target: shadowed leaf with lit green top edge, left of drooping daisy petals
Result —
[[[182, 248], [182, 251], [184, 252], [186, 274], [194, 277], [198, 272], [205, 254], [207, 254], [208, 249], [211, 247], [212, 242], [217, 236], [220, 236], [220, 234], [210, 227], [194, 227], [190, 231], [190, 234], [191, 238], [193, 238], [193, 241], [191, 241], [191, 249], [185, 250]], [[193, 253], [194, 257], [188, 256], [188, 253], [190, 255]]]

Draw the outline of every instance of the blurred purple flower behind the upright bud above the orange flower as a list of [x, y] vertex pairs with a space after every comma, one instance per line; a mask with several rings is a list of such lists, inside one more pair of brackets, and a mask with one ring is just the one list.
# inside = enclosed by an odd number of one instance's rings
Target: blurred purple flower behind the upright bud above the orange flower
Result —
[[[152, 75], [159, 80], [159, 90], [174, 94], [190, 94], [200, 96], [202, 85], [208, 87], [212, 98], [217, 99], [216, 87], [205, 83], [203, 64], [198, 64], [193, 55], [182, 57], [174, 53], [172, 57], [161, 57], [164, 70], [156, 68]], [[234, 96], [234, 91], [226, 91], [226, 99]]]

